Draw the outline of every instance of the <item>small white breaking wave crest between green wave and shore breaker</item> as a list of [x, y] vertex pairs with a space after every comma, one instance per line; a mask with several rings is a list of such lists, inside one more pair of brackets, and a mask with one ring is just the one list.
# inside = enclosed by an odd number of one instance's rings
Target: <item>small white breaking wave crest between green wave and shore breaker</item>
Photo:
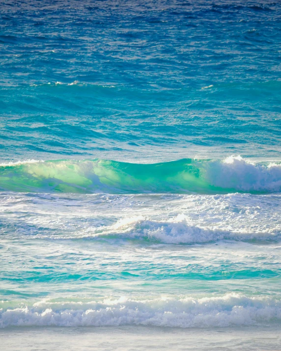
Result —
[[[22, 232], [21, 232], [22, 233]], [[23, 236], [26, 238], [26, 235]], [[164, 244], [192, 244], [210, 243], [220, 240], [233, 241], [268, 241], [276, 242], [281, 240], [280, 229], [263, 231], [249, 230], [226, 230], [221, 228], [208, 228], [207, 223], [202, 226], [195, 225], [185, 215], [178, 215], [169, 220], [156, 221], [143, 216], [125, 217], [115, 224], [101, 227], [89, 227], [83, 231], [62, 234], [38, 233], [34, 239], [126, 239], [144, 240], [150, 243]]]

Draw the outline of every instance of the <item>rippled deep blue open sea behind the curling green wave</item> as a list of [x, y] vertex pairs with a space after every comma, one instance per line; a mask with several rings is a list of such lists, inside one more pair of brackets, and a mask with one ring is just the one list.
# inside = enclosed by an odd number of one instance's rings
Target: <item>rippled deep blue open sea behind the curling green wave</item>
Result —
[[280, 15], [272, 1], [1, 1], [2, 159], [280, 159]]

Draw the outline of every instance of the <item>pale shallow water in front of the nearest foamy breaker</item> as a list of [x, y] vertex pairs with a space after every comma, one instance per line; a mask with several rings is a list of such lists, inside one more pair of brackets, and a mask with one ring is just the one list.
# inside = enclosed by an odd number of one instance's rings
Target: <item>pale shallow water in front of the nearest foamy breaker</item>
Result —
[[[19, 339], [21, 346], [19, 346]], [[188, 329], [144, 326], [98, 328], [0, 329], [5, 350], [173, 350], [279, 351], [281, 332], [274, 327]]]

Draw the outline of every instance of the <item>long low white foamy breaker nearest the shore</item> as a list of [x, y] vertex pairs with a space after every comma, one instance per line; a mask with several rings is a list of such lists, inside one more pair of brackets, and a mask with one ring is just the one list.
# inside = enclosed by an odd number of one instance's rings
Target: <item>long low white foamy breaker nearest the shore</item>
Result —
[[213, 327], [262, 324], [281, 320], [281, 300], [226, 294], [222, 297], [104, 299], [91, 302], [40, 301], [32, 306], [0, 309], [0, 326], [155, 325]]

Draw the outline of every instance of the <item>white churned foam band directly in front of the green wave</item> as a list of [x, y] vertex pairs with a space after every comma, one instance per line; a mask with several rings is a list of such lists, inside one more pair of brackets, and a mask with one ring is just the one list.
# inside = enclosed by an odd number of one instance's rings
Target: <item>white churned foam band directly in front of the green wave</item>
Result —
[[[3, 193], [0, 200], [0, 212], [9, 223], [6, 228], [15, 228], [11, 232], [13, 237], [114, 237], [175, 244], [222, 239], [281, 240], [280, 194], [36, 194], [30, 197], [30, 194]], [[24, 216], [14, 216], [15, 212]], [[36, 235], [34, 228], [38, 228]]]

